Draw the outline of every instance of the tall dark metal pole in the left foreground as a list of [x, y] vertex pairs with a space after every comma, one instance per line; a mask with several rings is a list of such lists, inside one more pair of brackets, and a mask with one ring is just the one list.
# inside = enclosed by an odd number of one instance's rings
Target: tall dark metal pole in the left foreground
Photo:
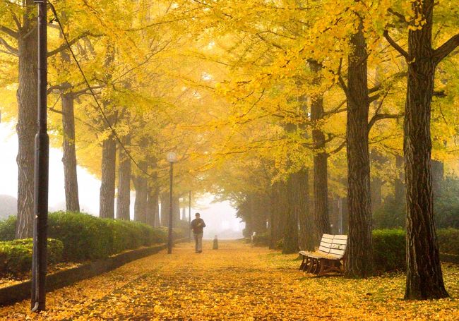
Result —
[[46, 308], [49, 137], [47, 134], [47, 1], [38, 4], [38, 132], [35, 135], [32, 311]]

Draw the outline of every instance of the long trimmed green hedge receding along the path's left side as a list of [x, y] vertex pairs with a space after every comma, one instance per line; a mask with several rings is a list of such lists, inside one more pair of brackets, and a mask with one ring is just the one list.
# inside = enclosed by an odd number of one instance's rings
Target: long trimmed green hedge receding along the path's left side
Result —
[[[0, 222], [0, 241], [14, 237], [16, 217]], [[12, 233], [12, 234], [11, 234]], [[183, 236], [174, 229], [174, 238]], [[107, 258], [124, 250], [167, 242], [167, 228], [90, 214], [54, 212], [48, 216], [48, 236], [64, 243], [63, 260], [81, 262]]]

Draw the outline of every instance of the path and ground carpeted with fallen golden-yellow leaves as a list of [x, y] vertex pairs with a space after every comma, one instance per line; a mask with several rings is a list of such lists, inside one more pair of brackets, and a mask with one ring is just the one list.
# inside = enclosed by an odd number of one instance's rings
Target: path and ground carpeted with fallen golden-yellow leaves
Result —
[[220, 241], [189, 243], [49, 293], [0, 308], [1, 320], [459, 320], [459, 267], [444, 265], [451, 299], [403, 301], [404, 277], [366, 280], [299, 272], [297, 255]]

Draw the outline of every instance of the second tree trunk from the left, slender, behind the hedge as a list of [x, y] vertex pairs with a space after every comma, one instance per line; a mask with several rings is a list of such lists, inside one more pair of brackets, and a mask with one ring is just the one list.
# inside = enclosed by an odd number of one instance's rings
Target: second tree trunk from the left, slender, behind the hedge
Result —
[[80, 212], [78, 178], [76, 173], [75, 116], [73, 115], [74, 96], [72, 93], [65, 93], [62, 95], [61, 99], [62, 128], [64, 131], [62, 162], [64, 163], [66, 210]]

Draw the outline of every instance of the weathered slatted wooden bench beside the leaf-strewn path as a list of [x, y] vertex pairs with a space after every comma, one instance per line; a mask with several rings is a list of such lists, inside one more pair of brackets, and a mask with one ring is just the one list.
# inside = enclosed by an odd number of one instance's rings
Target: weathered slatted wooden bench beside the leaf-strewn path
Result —
[[316, 252], [299, 251], [303, 258], [299, 269], [318, 275], [342, 272], [346, 246], [347, 235], [323, 234]]

